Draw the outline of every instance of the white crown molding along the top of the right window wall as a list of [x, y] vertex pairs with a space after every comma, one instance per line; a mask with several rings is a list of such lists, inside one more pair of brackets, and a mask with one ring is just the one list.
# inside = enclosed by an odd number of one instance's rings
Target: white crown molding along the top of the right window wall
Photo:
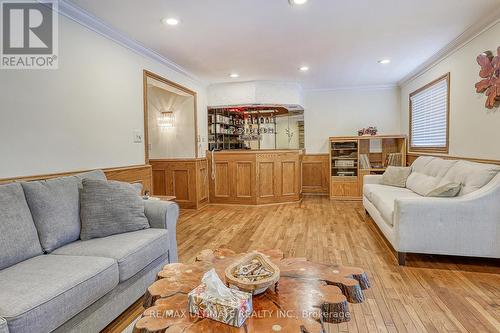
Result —
[[493, 12], [490, 13], [490, 15], [485, 16], [482, 20], [468, 27], [463, 33], [461, 33], [457, 38], [455, 38], [445, 47], [439, 50], [431, 58], [429, 58], [423, 64], [421, 64], [416, 69], [407, 74], [405, 77], [403, 77], [401, 80], [399, 80], [398, 85], [403, 86], [408, 82], [412, 81], [413, 79], [426, 73], [431, 68], [435, 67], [440, 62], [453, 55], [455, 52], [464, 48], [467, 44], [472, 42], [479, 35], [488, 31], [499, 22], [500, 22], [500, 8], [494, 10]]

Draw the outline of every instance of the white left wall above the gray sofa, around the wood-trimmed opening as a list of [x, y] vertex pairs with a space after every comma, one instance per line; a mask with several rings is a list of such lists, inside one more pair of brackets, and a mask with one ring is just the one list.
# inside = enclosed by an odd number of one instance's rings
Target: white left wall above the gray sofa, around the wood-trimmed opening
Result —
[[143, 69], [198, 93], [206, 149], [206, 89], [60, 17], [58, 70], [0, 73], [0, 178], [144, 163]]

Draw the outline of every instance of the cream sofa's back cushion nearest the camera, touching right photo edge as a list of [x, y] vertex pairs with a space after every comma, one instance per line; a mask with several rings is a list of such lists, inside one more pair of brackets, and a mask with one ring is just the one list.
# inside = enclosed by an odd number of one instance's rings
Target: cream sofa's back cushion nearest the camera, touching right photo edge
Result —
[[499, 171], [500, 165], [460, 160], [448, 170], [440, 185], [449, 182], [462, 184], [462, 189], [458, 193], [461, 196], [488, 184]]

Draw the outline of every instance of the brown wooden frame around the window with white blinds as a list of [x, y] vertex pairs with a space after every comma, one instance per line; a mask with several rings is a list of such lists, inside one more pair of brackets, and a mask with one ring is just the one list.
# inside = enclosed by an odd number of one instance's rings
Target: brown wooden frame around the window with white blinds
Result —
[[[413, 146], [413, 132], [412, 132], [412, 118], [413, 118], [413, 108], [412, 108], [412, 101], [411, 98], [438, 84], [441, 81], [446, 80], [446, 85], [447, 85], [447, 96], [446, 96], [446, 102], [447, 102], [447, 107], [446, 107], [446, 146], [445, 147], [436, 147], [436, 146], [428, 146], [428, 147], [414, 147]], [[448, 154], [449, 153], [449, 147], [450, 147], [450, 72], [438, 77], [432, 82], [427, 83], [425, 86], [413, 91], [409, 97], [409, 122], [408, 122], [408, 133], [410, 140], [408, 142], [408, 152], [410, 153], [438, 153], [438, 154]]]

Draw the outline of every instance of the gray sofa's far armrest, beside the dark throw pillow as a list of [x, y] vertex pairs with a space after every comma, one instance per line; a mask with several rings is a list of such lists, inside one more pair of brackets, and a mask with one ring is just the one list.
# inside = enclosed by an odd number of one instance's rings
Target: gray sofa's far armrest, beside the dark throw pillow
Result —
[[179, 218], [179, 205], [172, 201], [144, 200], [144, 208], [151, 228], [167, 229], [168, 260], [170, 263], [178, 262], [176, 225]]

